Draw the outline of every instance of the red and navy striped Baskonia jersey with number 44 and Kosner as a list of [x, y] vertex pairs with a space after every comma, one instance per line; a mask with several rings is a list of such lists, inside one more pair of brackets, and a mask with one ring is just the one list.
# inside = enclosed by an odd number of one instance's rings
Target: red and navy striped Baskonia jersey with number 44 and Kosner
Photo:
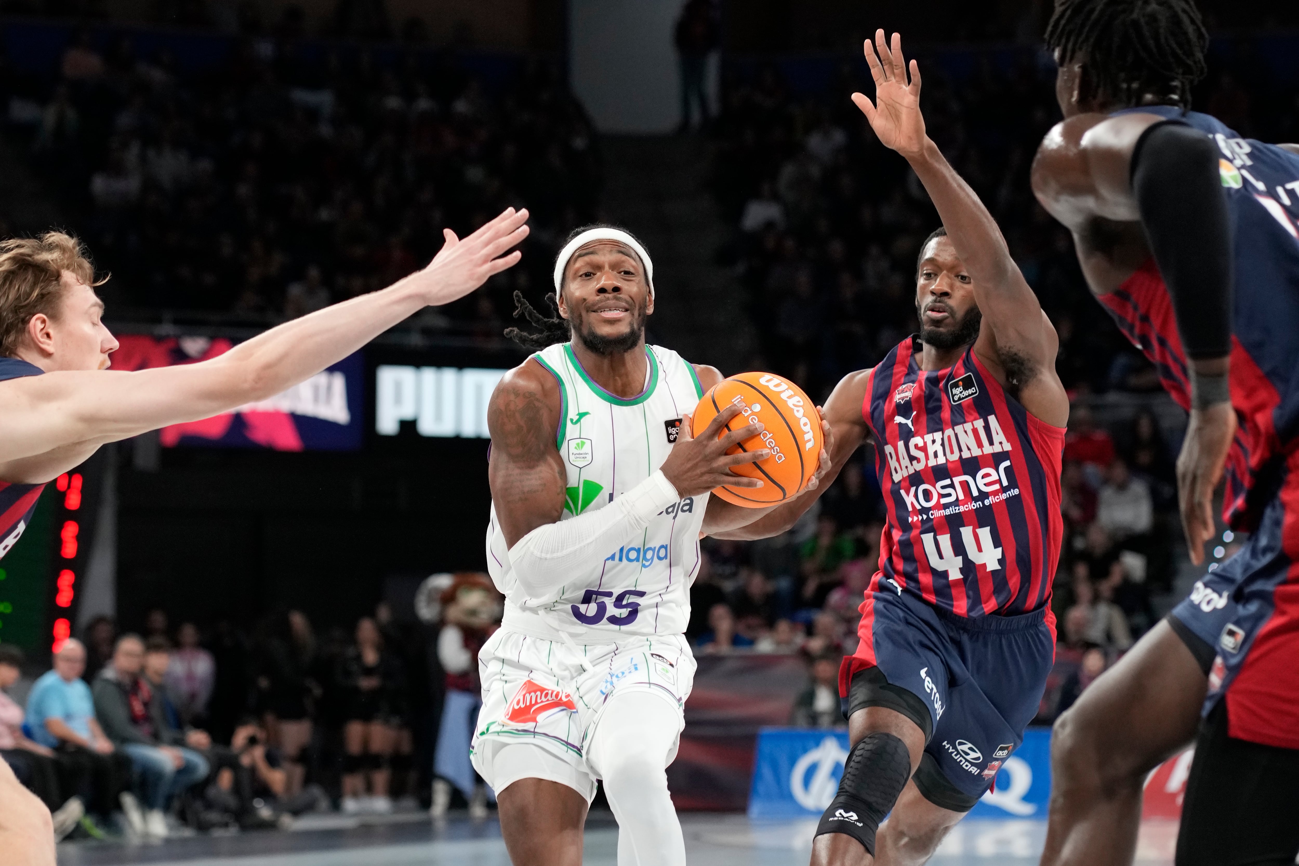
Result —
[[912, 592], [959, 617], [1037, 610], [1064, 532], [1064, 428], [1034, 418], [973, 347], [921, 370], [903, 340], [870, 371], [861, 406], [889, 508], [873, 591]]

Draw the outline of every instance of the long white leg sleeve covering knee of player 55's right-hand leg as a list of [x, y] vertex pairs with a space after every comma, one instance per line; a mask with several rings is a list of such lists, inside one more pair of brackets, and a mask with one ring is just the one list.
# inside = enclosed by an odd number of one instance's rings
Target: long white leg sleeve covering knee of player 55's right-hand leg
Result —
[[686, 840], [664, 769], [675, 757], [681, 710], [650, 692], [614, 693], [587, 760], [618, 819], [618, 866], [686, 866]]

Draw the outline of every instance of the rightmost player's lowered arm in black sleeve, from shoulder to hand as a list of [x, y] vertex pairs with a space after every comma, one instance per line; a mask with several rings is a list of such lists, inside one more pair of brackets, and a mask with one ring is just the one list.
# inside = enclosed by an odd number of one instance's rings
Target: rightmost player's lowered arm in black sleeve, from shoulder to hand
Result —
[[1177, 493], [1191, 562], [1215, 534], [1213, 488], [1235, 436], [1231, 232], [1217, 147], [1156, 114], [1079, 114], [1052, 129], [1033, 161], [1038, 201], [1074, 234], [1079, 260], [1103, 258], [1098, 221], [1141, 221], [1168, 287], [1190, 360], [1191, 417], [1177, 460]]

